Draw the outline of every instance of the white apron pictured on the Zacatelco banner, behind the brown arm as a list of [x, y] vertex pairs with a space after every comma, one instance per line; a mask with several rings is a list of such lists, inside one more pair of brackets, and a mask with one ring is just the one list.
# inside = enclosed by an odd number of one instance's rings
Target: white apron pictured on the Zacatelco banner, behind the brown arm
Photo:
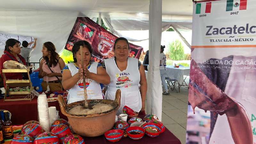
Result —
[[[246, 67], [241, 65], [241, 60], [256, 60], [256, 57], [234, 56], [232, 67]], [[236, 65], [236, 61], [240, 65]], [[256, 66], [254, 69], [231, 69], [225, 88], [225, 93], [241, 103], [251, 120], [253, 143], [256, 143]], [[242, 130], [241, 130], [242, 131]], [[234, 144], [226, 114], [217, 117], [209, 144]]]

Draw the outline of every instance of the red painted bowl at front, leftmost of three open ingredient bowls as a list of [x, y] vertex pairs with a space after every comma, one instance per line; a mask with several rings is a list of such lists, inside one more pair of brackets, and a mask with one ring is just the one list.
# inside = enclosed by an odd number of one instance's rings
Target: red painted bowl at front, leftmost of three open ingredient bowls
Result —
[[122, 139], [124, 135], [123, 130], [110, 130], [108, 132], [105, 132], [105, 138], [110, 142], [117, 142]]

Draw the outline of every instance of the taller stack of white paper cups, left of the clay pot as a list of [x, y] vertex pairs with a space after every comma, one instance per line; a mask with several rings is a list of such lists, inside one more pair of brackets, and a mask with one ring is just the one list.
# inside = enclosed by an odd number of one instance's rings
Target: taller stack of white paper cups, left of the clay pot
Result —
[[39, 122], [45, 132], [50, 131], [50, 116], [46, 95], [39, 95], [37, 98], [37, 109]]

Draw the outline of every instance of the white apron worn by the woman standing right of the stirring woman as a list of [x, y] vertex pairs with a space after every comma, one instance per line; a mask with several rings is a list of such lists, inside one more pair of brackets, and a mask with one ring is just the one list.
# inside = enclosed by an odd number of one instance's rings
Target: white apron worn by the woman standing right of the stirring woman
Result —
[[110, 84], [106, 92], [107, 99], [115, 100], [116, 90], [121, 90], [121, 106], [117, 115], [123, 113], [124, 106], [139, 112], [142, 104], [139, 91], [140, 72], [138, 59], [128, 58], [127, 68], [124, 71], [119, 70], [115, 58], [105, 59], [105, 66], [110, 76]]

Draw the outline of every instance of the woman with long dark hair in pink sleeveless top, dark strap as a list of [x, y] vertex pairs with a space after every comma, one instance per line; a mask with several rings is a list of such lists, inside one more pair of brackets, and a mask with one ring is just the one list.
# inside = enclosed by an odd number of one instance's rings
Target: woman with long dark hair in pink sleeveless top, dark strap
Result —
[[43, 78], [42, 88], [47, 90], [49, 85], [50, 91], [61, 91], [61, 69], [65, 67], [65, 62], [60, 58], [59, 54], [52, 42], [43, 44], [43, 59], [40, 61], [39, 78]]

